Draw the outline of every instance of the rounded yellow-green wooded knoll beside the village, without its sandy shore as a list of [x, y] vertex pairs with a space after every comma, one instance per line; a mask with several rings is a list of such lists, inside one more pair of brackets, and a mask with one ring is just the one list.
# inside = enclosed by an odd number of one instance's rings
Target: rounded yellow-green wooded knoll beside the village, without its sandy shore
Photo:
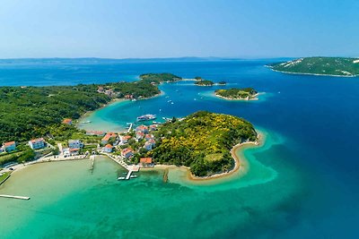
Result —
[[234, 166], [232, 147], [243, 141], [257, 140], [257, 132], [249, 122], [206, 111], [163, 124], [155, 136], [156, 147], [148, 154], [156, 163], [189, 166], [197, 176], [231, 170]]

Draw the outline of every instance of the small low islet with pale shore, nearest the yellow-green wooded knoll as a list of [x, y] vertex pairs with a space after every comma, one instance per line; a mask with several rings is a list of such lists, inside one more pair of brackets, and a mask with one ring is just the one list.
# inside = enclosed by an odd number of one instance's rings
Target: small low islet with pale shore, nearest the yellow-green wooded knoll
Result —
[[253, 100], [258, 99], [258, 91], [253, 88], [232, 88], [228, 90], [215, 90], [215, 95], [226, 99]]

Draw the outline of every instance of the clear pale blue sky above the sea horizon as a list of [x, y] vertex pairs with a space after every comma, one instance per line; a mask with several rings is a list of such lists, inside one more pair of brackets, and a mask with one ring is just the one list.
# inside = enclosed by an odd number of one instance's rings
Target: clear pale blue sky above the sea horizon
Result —
[[2, 0], [0, 58], [359, 56], [357, 0]]

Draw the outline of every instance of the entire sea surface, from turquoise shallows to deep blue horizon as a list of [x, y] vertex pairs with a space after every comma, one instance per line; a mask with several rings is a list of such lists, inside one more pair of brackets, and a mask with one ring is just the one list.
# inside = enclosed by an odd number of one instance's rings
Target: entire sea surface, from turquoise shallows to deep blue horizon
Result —
[[[136, 116], [209, 110], [238, 115], [263, 133], [237, 154], [247, 172], [206, 184], [180, 169], [125, 171], [109, 158], [39, 164], [15, 172], [0, 194], [1, 238], [358, 238], [359, 78], [275, 73], [280, 61], [0, 61], [0, 85], [136, 81], [141, 73], [197, 75], [226, 86], [164, 83], [162, 95], [93, 112], [84, 129], [121, 131]], [[257, 101], [215, 98], [215, 89], [254, 87]], [[171, 101], [170, 101], [171, 100]], [[170, 101], [170, 102], [169, 102]], [[173, 104], [171, 104], [173, 102]]]

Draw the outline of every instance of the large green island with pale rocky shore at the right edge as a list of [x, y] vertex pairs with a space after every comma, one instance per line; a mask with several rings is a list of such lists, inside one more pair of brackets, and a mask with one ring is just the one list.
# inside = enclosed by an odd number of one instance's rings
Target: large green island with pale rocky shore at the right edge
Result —
[[268, 64], [281, 73], [298, 73], [331, 76], [358, 76], [359, 59], [346, 57], [305, 57], [289, 62]]

